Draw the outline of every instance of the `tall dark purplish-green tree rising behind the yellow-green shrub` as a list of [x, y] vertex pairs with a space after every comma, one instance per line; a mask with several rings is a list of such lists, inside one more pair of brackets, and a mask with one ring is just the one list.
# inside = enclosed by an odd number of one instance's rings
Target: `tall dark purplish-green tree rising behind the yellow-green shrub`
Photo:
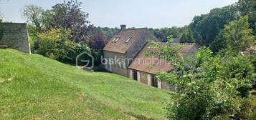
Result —
[[72, 41], [85, 41], [92, 25], [89, 25], [90, 21], [87, 20], [89, 14], [82, 11], [81, 4], [77, 0], [70, 0], [52, 6], [52, 9], [43, 13], [44, 25], [47, 29], [70, 29]]

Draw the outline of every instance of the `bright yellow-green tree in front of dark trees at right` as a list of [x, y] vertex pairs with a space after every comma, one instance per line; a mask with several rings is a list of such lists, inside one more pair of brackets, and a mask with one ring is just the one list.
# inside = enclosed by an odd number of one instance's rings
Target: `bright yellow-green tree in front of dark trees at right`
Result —
[[211, 44], [211, 49], [219, 51], [219, 49], [228, 47], [237, 51], [245, 51], [247, 47], [255, 44], [256, 39], [252, 29], [250, 29], [248, 19], [248, 16], [242, 16], [240, 19], [225, 25], [217, 39]]

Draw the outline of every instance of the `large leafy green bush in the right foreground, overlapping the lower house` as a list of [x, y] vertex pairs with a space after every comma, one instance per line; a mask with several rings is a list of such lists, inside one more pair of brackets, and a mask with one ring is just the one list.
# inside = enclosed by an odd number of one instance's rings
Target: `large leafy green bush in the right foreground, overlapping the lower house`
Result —
[[241, 111], [240, 102], [255, 83], [250, 59], [242, 55], [214, 56], [206, 47], [194, 56], [181, 56], [177, 50], [182, 46], [174, 46], [171, 41], [166, 46], [153, 42], [151, 48], [158, 52], [146, 55], [166, 59], [174, 66], [171, 72], [157, 74], [158, 79], [176, 86], [166, 107], [169, 119], [240, 119], [241, 114], [249, 114]]

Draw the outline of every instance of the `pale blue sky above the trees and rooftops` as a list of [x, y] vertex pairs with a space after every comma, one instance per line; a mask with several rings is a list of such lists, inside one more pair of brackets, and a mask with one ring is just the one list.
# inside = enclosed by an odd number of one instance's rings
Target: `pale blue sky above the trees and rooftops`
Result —
[[[194, 16], [234, 4], [237, 0], [80, 0], [95, 26], [163, 28], [184, 26]], [[27, 4], [50, 9], [62, 0], [1, 0], [4, 21], [24, 22], [22, 8]]]

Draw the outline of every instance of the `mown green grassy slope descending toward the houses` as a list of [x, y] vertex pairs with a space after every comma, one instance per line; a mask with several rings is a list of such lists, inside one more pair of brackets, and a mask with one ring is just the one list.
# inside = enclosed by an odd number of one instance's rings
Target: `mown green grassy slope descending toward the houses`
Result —
[[0, 119], [165, 119], [167, 91], [0, 49]]

